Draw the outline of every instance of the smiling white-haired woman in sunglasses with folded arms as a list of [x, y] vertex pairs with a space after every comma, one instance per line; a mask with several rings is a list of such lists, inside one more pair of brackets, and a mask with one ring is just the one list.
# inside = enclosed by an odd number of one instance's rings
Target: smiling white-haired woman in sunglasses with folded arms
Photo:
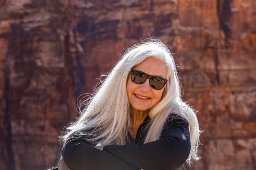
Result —
[[200, 159], [195, 111], [160, 40], [129, 48], [85, 102], [62, 136], [60, 164], [70, 169], [174, 170]]

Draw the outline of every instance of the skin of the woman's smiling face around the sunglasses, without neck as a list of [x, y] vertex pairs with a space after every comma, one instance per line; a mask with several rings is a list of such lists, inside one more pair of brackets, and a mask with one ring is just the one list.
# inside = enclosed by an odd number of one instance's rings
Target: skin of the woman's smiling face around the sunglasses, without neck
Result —
[[[149, 57], [139, 65], [136, 65], [133, 70], [143, 71], [146, 74], [167, 79], [167, 68], [165, 63], [152, 57]], [[149, 79], [143, 84], [136, 84], [131, 81], [131, 76], [129, 76], [127, 82], [127, 94], [133, 113], [147, 111], [156, 105], [162, 97], [163, 90], [164, 88], [161, 90], [151, 88]]]

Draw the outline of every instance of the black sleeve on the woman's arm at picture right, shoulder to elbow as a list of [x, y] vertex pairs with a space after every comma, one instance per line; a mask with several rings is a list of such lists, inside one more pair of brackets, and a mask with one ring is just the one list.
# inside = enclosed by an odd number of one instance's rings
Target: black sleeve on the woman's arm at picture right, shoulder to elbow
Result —
[[183, 119], [168, 120], [157, 141], [105, 146], [103, 150], [143, 170], [174, 170], [190, 153], [188, 123]]

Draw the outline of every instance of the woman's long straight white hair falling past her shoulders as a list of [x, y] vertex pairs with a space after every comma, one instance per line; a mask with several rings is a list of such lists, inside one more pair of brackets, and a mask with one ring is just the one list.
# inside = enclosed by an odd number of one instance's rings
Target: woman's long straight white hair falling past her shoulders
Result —
[[81, 114], [79, 119], [67, 127], [67, 132], [61, 136], [62, 140], [66, 142], [76, 133], [88, 136], [87, 141], [93, 145], [127, 144], [131, 109], [126, 83], [131, 68], [148, 57], [160, 59], [166, 64], [168, 82], [162, 99], [148, 112], [151, 126], [144, 143], [160, 139], [166, 119], [174, 113], [182, 116], [189, 123], [191, 150], [186, 161], [191, 164], [193, 160], [199, 160], [197, 153], [201, 131], [196, 111], [182, 101], [174, 59], [169, 49], [158, 39], [135, 44], [125, 51], [102, 84], [87, 100], [80, 103], [79, 108], [84, 105], [85, 108], [82, 111], [79, 109]]

